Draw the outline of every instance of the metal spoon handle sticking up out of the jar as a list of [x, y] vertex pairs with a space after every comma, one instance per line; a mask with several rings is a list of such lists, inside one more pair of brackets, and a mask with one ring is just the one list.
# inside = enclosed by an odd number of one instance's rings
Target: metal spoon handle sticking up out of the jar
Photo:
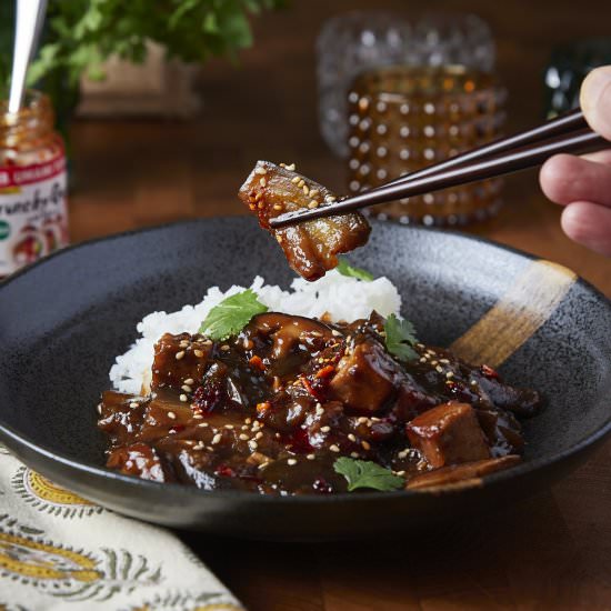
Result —
[[11, 90], [9, 94], [10, 113], [18, 112], [23, 102], [28, 66], [36, 52], [46, 11], [47, 0], [18, 0], [17, 2]]

